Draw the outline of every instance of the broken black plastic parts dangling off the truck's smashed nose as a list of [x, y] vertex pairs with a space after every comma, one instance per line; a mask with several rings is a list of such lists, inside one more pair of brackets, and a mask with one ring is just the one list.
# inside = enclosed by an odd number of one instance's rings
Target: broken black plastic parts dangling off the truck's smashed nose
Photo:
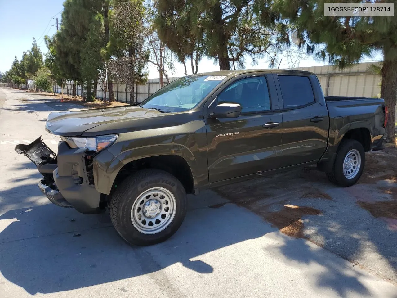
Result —
[[58, 167], [57, 155], [43, 143], [41, 136], [28, 145], [16, 145], [15, 151], [29, 158], [43, 175], [44, 178], [40, 180], [39, 188], [51, 203], [60, 207], [74, 207], [66, 201], [55, 184], [54, 171]]

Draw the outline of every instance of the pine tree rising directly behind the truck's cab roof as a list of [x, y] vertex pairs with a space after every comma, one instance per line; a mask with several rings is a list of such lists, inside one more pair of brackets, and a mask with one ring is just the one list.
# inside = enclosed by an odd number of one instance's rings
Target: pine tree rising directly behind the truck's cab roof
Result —
[[273, 66], [285, 35], [260, 23], [253, 1], [159, 0], [156, 25], [160, 38], [179, 57], [202, 47], [220, 70], [244, 68], [245, 56], [266, 56]]

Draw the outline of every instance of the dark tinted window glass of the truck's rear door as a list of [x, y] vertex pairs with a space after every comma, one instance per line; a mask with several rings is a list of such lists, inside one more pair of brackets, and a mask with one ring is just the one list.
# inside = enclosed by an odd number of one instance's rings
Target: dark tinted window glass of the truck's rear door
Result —
[[301, 75], [278, 75], [284, 108], [297, 108], [314, 102], [312, 84]]

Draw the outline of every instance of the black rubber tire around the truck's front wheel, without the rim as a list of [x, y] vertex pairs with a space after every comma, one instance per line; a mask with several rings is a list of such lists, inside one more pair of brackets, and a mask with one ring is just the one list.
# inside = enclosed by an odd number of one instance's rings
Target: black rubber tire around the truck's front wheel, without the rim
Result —
[[[131, 210], [139, 195], [150, 188], [161, 187], [175, 197], [175, 215], [169, 225], [156, 234], [145, 234], [135, 228]], [[110, 201], [110, 218], [116, 231], [129, 244], [146, 246], [170, 238], [181, 226], [186, 215], [186, 192], [177, 178], [162, 170], [141, 170], [127, 177], [116, 188]]]

